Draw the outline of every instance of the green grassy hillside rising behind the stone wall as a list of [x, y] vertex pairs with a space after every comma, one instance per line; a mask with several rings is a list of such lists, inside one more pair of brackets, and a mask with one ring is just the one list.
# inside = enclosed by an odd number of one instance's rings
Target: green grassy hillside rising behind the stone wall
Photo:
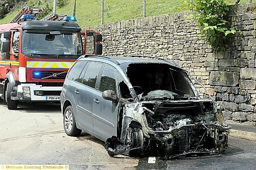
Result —
[[[20, 4], [16, 10], [9, 13], [0, 24], [9, 23], [10, 20], [24, 6], [31, 5], [39, 0], [27, 0]], [[43, 2], [45, 1], [45, 2]], [[53, 0], [52, 0], [53, 1]], [[184, 0], [146, 0], [146, 16], [156, 16], [165, 13], [174, 13], [186, 10]], [[229, 4], [234, 4], [236, 0], [225, 0]], [[253, 0], [255, 1], [255, 0]], [[240, 3], [248, 2], [241, 0]], [[46, 6], [49, 0], [41, 0], [41, 4], [35, 7]], [[64, 7], [57, 7], [57, 13], [67, 13], [72, 15], [74, 0], [67, 0]], [[53, 2], [49, 4], [53, 7]], [[77, 23], [81, 27], [95, 26], [101, 24], [101, 0], [76, 0]], [[104, 23], [120, 20], [129, 20], [143, 17], [143, 0], [105, 0], [104, 3]]]

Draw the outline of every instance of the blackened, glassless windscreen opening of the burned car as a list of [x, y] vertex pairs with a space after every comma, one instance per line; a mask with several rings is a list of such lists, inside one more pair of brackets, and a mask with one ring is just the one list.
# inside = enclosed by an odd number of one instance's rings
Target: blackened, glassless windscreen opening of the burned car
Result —
[[143, 92], [142, 96], [158, 99], [195, 97], [182, 69], [161, 63], [131, 63], [126, 70], [130, 83], [135, 91]]

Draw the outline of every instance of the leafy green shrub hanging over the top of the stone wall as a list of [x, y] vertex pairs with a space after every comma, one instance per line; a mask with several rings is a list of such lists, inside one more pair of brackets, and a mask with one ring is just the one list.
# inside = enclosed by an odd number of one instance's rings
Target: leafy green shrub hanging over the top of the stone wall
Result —
[[188, 18], [194, 19], [199, 26], [200, 34], [215, 50], [223, 50], [223, 40], [230, 33], [236, 33], [235, 28], [227, 28], [227, 21], [223, 18], [229, 7], [223, 0], [195, 0], [188, 7], [195, 11]]

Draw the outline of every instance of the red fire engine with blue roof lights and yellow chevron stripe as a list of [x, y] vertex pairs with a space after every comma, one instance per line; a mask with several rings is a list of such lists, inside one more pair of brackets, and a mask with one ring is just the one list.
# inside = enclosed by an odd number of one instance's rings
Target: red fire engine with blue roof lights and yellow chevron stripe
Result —
[[17, 109], [18, 102], [59, 101], [74, 61], [84, 53], [102, 53], [101, 34], [81, 33], [74, 17], [22, 18], [22, 23], [0, 25], [0, 97], [10, 110]]

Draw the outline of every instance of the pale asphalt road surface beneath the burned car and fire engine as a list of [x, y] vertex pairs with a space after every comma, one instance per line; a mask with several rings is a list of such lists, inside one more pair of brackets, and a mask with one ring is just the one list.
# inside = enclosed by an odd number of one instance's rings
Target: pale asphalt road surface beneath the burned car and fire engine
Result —
[[148, 163], [148, 157], [109, 157], [103, 142], [82, 132], [68, 137], [59, 104], [0, 102], [0, 164], [69, 164], [70, 170], [256, 170], [256, 142], [229, 138], [225, 155]]

